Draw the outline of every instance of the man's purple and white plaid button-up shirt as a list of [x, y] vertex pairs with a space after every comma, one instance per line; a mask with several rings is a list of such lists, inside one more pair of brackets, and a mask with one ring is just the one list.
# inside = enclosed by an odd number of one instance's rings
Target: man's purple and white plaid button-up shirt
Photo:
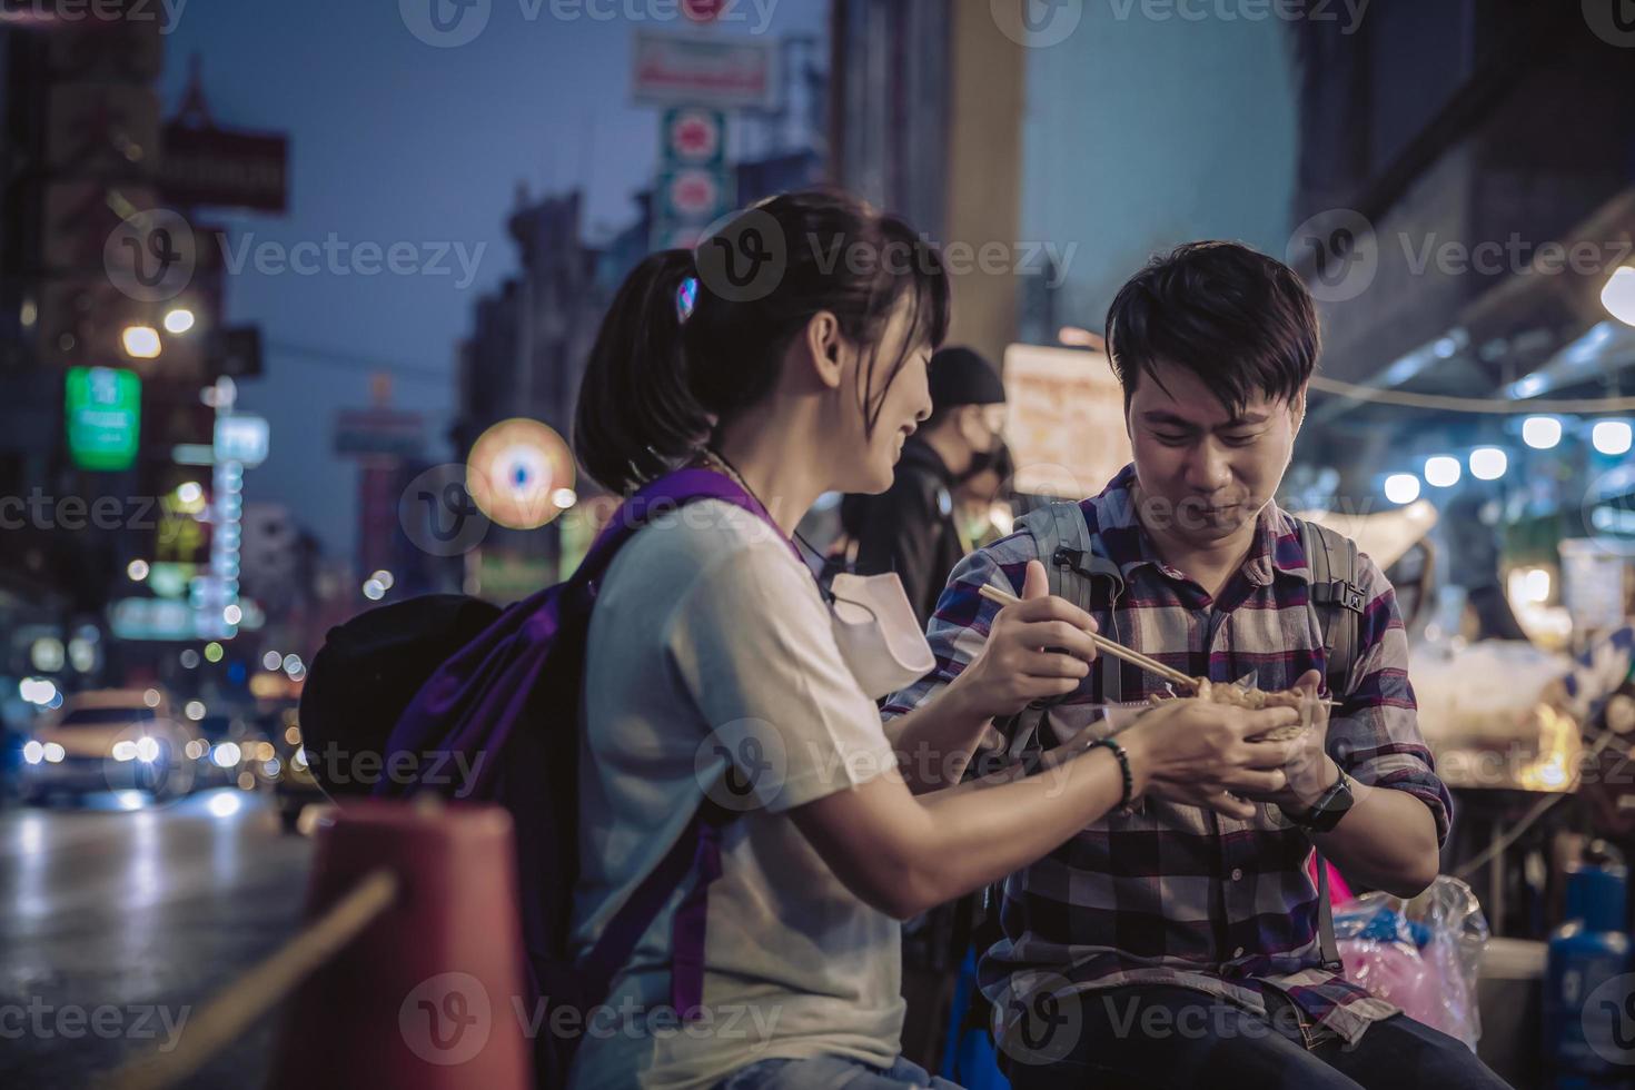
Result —
[[[1135, 467], [1081, 503], [1092, 551], [1117, 565], [1094, 580], [1091, 613], [1100, 631], [1187, 675], [1233, 681], [1249, 670], [1264, 690], [1324, 672], [1321, 631], [1308, 608], [1311, 569], [1293, 520], [1269, 503], [1254, 546], [1220, 598], [1158, 559], [1135, 518]], [[976, 657], [999, 606], [983, 583], [1020, 593], [1038, 556], [1022, 531], [968, 556], [953, 570], [927, 637], [937, 668], [885, 706], [888, 717], [930, 699]], [[1408, 685], [1408, 641], [1390, 582], [1364, 557], [1367, 600], [1357, 663], [1333, 709], [1329, 755], [1360, 783], [1408, 791], [1447, 837], [1452, 802], [1419, 737]], [[1162, 681], [1123, 665], [1123, 699], [1146, 699]], [[1051, 713], [1068, 729], [1084, 726], [1100, 699], [1100, 670]], [[1077, 713], [1074, 713], [1077, 706]], [[1074, 717], [1077, 716], [1077, 721]], [[1004, 886], [1004, 938], [983, 958], [983, 992], [1004, 1025], [1033, 1010], [1035, 994], [1058, 995], [1123, 984], [1197, 989], [1265, 1013], [1275, 989], [1301, 1015], [1308, 1044], [1334, 1033], [1354, 1043], [1372, 1021], [1398, 1013], [1321, 967], [1318, 894], [1305, 864], [1306, 833], [1275, 806], [1251, 820], [1148, 799], [1135, 812], [1110, 812]], [[1321, 1028], [1316, 1028], [1321, 1026]]]

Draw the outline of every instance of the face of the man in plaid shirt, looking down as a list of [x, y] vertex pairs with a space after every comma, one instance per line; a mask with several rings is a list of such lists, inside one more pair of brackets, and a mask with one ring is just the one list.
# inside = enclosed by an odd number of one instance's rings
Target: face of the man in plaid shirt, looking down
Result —
[[1159, 363], [1143, 373], [1125, 410], [1141, 520], [1198, 547], [1252, 525], [1277, 492], [1305, 415], [1293, 400], [1256, 395], [1231, 412], [1190, 371]]

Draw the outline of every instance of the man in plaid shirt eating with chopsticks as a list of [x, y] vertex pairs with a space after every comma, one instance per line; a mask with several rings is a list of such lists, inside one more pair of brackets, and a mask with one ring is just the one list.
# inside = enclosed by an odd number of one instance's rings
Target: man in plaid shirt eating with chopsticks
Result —
[[[1216, 683], [1252, 672], [1267, 691], [1315, 690], [1326, 677], [1313, 572], [1272, 502], [1318, 340], [1300, 279], [1236, 243], [1182, 247], [1120, 291], [1107, 346], [1135, 464], [1079, 505], [1100, 632]], [[1022, 531], [953, 570], [927, 629], [937, 668], [888, 717], [981, 654], [999, 606], [978, 588], [1019, 595], [1032, 561], [1053, 557]], [[1354, 881], [1411, 897], [1436, 878], [1450, 814], [1395, 595], [1367, 557], [1360, 590], [1349, 683], [1285, 791], [1215, 809], [1138, 802], [1007, 879], [981, 982], [1014, 1087], [1504, 1085], [1454, 1038], [1323, 967], [1313, 845]], [[1166, 688], [1118, 668], [1123, 701]], [[1102, 690], [1092, 670], [1051, 722], [1086, 726]]]

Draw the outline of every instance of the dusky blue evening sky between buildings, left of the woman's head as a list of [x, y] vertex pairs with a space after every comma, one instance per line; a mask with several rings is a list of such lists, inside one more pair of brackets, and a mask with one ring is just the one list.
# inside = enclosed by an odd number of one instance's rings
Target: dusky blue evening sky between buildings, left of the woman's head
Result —
[[[665, 13], [651, 0], [590, 8]], [[826, 10], [770, 0], [768, 33], [822, 33]], [[742, 21], [723, 33], [764, 25], [754, 5], [739, 11]], [[356, 472], [330, 453], [330, 436], [338, 409], [370, 402], [370, 361], [394, 373], [394, 407], [427, 415], [428, 453], [455, 456], [445, 438], [455, 346], [477, 296], [517, 268], [505, 237], [517, 183], [536, 198], [585, 190], [595, 235], [633, 217], [631, 196], [652, 172], [657, 111], [628, 101], [636, 25], [564, 0], [492, 0], [476, 39], [433, 47], [392, 0], [181, 7], [165, 36], [165, 114], [180, 101], [188, 56], [199, 52], [216, 124], [281, 131], [291, 142], [286, 216], [199, 217], [231, 229], [235, 255], [247, 242], [325, 247], [334, 234], [343, 268], [356, 243], [407, 242], [407, 265], [445, 250], [448, 270], [337, 275], [324, 257], [312, 275], [268, 275], [253, 258], [229, 273], [229, 320], [258, 322], [268, 345], [265, 376], [240, 387], [240, 409], [271, 422], [271, 456], [247, 474], [245, 500], [288, 503], [329, 556], [350, 556]], [[651, 15], [646, 25], [677, 26]]]

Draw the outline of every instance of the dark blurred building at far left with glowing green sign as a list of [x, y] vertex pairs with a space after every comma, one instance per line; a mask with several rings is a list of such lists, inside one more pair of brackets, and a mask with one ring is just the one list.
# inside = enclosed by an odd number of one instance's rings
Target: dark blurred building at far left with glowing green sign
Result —
[[[21, 511], [0, 529], [15, 580], [0, 631], [49, 618], [95, 632], [105, 654], [47, 672], [59, 688], [162, 677], [201, 634], [201, 608], [234, 628], [221, 605], [188, 605], [196, 577], [235, 579], [222, 556], [211, 564], [239, 498], [213, 477], [219, 413], [204, 395], [258, 373], [260, 351], [255, 330], [224, 322], [221, 250], [193, 211], [239, 194], [185, 183], [271, 145], [257, 199], [281, 201], [283, 139], [234, 144], [196, 72], [164, 119], [162, 25], [118, 2], [0, 20], [0, 502]], [[188, 147], [185, 163], [164, 154]]]

